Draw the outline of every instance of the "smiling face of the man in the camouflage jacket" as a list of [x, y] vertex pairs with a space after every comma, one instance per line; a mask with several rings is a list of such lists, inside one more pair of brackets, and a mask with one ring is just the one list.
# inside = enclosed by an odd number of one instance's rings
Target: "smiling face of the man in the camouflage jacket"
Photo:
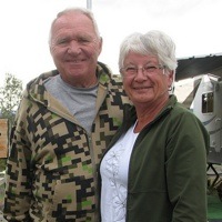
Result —
[[62, 79], [74, 87], [94, 83], [102, 40], [92, 21], [79, 12], [61, 16], [52, 26], [50, 52]]

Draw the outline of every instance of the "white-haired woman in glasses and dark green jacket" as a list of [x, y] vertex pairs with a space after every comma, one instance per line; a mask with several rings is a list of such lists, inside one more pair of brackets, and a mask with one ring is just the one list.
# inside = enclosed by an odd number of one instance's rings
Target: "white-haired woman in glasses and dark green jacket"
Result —
[[134, 108], [101, 164], [102, 222], [205, 222], [209, 134], [170, 93], [175, 46], [160, 31], [128, 37], [120, 72]]

